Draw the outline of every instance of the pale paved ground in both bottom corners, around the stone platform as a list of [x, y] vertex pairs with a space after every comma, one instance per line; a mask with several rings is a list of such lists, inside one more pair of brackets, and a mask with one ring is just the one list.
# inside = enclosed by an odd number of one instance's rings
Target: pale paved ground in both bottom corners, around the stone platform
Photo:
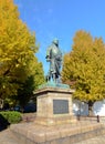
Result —
[[[20, 144], [20, 143], [8, 128], [0, 132], [0, 144]], [[105, 135], [96, 136], [94, 138], [82, 141], [75, 144], [105, 144]]]

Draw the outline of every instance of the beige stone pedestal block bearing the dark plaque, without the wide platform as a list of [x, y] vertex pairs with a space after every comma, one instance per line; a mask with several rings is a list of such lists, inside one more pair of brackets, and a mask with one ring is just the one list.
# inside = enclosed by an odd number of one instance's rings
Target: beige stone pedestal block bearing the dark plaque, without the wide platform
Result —
[[35, 124], [57, 125], [76, 121], [73, 116], [71, 89], [44, 88], [38, 90]]

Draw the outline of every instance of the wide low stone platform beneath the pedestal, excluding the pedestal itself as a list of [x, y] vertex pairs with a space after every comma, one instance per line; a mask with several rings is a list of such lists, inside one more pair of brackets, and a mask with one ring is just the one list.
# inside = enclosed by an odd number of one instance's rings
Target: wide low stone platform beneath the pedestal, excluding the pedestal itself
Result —
[[11, 125], [10, 130], [22, 144], [75, 144], [105, 134], [104, 125], [94, 122], [78, 122], [56, 126], [22, 123]]

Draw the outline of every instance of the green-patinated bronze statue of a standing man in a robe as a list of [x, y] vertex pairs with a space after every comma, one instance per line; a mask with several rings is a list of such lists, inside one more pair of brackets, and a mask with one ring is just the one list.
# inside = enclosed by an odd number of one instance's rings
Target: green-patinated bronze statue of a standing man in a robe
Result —
[[60, 78], [60, 69], [62, 62], [62, 53], [59, 48], [59, 40], [53, 40], [52, 44], [48, 48], [46, 51], [46, 61], [50, 62], [50, 70], [46, 76], [46, 80], [50, 81], [51, 78], [54, 82]]

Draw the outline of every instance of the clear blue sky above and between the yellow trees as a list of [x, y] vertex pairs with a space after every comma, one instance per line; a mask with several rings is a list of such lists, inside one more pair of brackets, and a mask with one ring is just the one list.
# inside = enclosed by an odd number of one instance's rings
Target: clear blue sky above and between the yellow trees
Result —
[[54, 38], [60, 41], [62, 53], [72, 49], [76, 31], [85, 30], [105, 42], [105, 0], [14, 0], [20, 18], [31, 31], [35, 31], [40, 50], [36, 54], [49, 70], [46, 48]]

